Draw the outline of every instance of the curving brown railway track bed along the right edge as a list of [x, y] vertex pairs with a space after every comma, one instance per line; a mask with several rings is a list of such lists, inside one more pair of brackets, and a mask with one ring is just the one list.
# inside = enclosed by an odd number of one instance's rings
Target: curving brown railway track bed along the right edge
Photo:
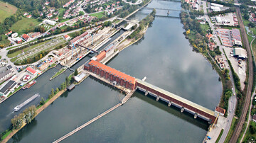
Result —
[[238, 125], [235, 127], [235, 131], [234, 131], [234, 133], [233, 133], [233, 135], [230, 139], [230, 142], [237, 142], [238, 137], [240, 135], [240, 132], [242, 131], [242, 125], [245, 122], [247, 110], [248, 110], [249, 105], [250, 105], [250, 97], [251, 97], [251, 94], [252, 94], [252, 81], [253, 81], [252, 52], [250, 50], [249, 41], [247, 39], [247, 35], [246, 35], [246, 31], [245, 31], [245, 25], [242, 22], [242, 15], [241, 15], [241, 11], [240, 11], [239, 7], [236, 8], [236, 12], [238, 14], [238, 23], [240, 25], [242, 41], [244, 42], [244, 45], [245, 45], [245, 48], [246, 48], [246, 51], [247, 51], [247, 57], [248, 57], [247, 60], [249, 62], [249, 77], [248, 77], [247, 92], [246, 92], [246, 95], [245, 95], [245, 103], [244, 103], [244, 106], [242, 108], [242, 114], [241, 114], [240, 119], [238, 121]]

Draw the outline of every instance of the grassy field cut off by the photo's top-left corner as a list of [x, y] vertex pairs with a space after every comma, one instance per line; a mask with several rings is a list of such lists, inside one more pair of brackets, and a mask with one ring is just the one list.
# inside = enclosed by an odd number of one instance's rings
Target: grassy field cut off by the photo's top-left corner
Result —
[[6, 7], [6, 3], [0, 1], [0, 23], [3, 22], [5, 18], [13, 15], [16, 11], [16, 6], [8, 4], [8, 7]]

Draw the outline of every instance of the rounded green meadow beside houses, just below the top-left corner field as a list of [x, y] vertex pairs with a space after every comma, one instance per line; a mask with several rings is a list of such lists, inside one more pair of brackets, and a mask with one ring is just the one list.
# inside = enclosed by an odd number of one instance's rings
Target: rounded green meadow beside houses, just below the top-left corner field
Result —
[[37, 19], [33, 18], [22, 18], [21, 21], [14, 23], [11, 26], [11, 30], [16, 31], [18, 35], [26, 32], [26, 29], [36, 27], [39, 23]]

